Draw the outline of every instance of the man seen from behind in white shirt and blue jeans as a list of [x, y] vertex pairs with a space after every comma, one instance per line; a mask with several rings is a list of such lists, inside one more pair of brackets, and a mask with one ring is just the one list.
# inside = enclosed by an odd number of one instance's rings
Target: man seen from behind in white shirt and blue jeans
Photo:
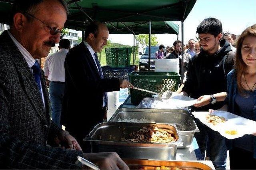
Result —
[[48, 83], [48, 86], [50, 85], [52, 121], [61, 128], [60, 115], [65, 87], [64, 61], [70, 49], [70, 41], [68, 39], [61, 39], [58, 48], [60, 51], [47, 57], [44, 63], [44, 75], [46, 80], [48, 79], [46, 83]]

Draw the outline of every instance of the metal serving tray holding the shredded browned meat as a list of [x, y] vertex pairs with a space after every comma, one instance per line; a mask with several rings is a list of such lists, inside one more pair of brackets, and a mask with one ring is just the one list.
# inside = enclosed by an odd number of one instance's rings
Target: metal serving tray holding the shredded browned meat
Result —
[[[172, 143], [120, 141], [121, 137], [128, 137], [130, 133], [136, 132], [142, 127], [153, 125], [174, 132], [177, 141]], [[155, 123], [100, 123], [84, 138], [84, 141], [91, 142], [92, 152], [117, 152], [121, 158], [160, 160], [175, 160], [177, 145], [182, 145], [175, 125]]]

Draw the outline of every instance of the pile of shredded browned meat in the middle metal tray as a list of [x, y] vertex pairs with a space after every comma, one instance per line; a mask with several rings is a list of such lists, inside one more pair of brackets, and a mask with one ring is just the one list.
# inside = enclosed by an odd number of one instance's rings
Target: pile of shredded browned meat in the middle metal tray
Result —
[[152, 127], [140, 128], [137, 132], [129, 134], [129, 138], [123, 137], [121, 141], [128, 142], [155, 142], [155, 143], [171, 143], [175, 142], [173, 132], [167, 132], [155, 125]]

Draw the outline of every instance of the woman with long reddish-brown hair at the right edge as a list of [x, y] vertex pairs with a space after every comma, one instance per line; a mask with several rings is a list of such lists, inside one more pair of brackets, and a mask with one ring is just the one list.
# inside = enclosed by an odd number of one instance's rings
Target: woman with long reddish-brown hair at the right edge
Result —
[[[242, 32], [236, 47], [236, 69], [228, 73], [226, 105], [219, 110], [256, 121], [256, 25]], [[230, 169], [256, 169], [256, 134], [226, 140], [226, 144]]]

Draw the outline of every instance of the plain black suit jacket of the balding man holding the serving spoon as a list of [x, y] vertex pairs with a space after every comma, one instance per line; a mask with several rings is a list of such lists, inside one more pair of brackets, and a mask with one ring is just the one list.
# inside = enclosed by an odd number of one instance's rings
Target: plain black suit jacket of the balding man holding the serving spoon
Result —
[[80, 142], [103, 121], [104, 92], [119, 91], [118, 79], [101, 79], [84, 42], [70, 49], [65, 59], [65, 93], [62, 125]]

